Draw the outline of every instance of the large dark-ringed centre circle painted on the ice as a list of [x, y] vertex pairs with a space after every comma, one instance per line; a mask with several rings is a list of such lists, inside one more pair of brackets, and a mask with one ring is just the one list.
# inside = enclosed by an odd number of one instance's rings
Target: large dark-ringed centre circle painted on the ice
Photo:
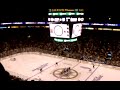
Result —
[[70, 69], [68, 72], [63, 72], [65, 68], [57, 69], [53, 72], [53, 75], [60, 79], [72, 79], [78, 76], [76, 70]]

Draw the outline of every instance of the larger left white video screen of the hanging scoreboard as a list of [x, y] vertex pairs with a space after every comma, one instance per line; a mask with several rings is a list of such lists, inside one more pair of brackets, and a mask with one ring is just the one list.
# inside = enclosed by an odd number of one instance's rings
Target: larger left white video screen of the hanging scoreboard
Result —
[[67, 24], [49, 24], [50, 37], [69, 38], [69, 26]]

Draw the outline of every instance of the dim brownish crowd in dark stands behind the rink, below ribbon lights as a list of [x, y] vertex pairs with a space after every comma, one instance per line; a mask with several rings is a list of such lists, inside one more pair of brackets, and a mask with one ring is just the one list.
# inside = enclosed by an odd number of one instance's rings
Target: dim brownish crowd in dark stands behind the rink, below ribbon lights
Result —
[[77, 42], [61, 43], [50, 38], [46, 29], [14, 31], [0, 31], [3, 34], [0, 36], [0, 58], [21, 52], [40, 52], [104, 63], [107, 52], [111, 51], [112, 59], [105, 64], [120, 66], [120, 32], [83, 30]]

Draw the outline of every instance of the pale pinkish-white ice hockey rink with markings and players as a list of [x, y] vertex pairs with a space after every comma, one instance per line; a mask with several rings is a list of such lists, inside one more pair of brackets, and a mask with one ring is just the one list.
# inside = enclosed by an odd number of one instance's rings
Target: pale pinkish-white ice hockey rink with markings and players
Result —
[[[11, 75], [27, 81], [120, 81], [119, 67], [44, 53], [18, 53], [1, 58], [0, 62]], [[61, 74], [68, 67], [70, 73]]]

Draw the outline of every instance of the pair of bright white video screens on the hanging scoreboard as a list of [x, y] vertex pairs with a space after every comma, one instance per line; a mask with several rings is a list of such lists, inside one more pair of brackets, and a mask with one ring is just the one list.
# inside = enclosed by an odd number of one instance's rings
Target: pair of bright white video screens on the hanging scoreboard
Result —
[[[49, 24], [50, 37], [75, 38], [81, 36], [82, 24], [73, 24], [72, 35], [70, 35], [68, 24]], [[72, 36], [72, 37], [70, 37]]]

